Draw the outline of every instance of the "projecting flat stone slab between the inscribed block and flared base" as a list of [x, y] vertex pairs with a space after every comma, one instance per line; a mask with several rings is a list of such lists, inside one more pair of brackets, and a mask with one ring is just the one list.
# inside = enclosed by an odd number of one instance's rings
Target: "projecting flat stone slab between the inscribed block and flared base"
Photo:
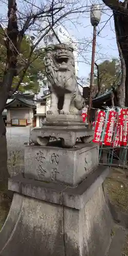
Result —
[[76, 187], [28, 180], [18, 175], [9, 179], [8, 188], [25, 196], [80, 210], [108, 175], [108, 167], [98, 166], [94, 172]]

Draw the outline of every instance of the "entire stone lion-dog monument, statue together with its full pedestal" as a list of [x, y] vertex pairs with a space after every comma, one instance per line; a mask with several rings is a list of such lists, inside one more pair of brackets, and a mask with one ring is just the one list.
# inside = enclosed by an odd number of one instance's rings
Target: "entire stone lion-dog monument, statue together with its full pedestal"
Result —
[[25, 170], [9, 179], [14, 197], [0, 231], [0, 255], [105, 256], [112, 218], [102, 183], [109, 169], [98, 166], [98, 147], [87, 144], [93, 131], [80, 115], [73, 48], [50, 45], [45, 60], [51, 108], [31, 132], [35, 145], [26, 146]]

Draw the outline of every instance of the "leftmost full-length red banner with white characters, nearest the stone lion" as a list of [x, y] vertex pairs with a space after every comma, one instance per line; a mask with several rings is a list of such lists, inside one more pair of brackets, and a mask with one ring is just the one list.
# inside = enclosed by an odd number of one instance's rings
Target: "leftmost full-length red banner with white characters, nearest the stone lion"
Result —
[[95, 143], [98, 143], [100, 141], [103, 126], [104, 126], [104, 120], [105, 120], [105, 111], [100, 110], [97, 115], [95, 134], [94, 134], [94, 139], [93, 139], [93, 142], [95, 142]]

